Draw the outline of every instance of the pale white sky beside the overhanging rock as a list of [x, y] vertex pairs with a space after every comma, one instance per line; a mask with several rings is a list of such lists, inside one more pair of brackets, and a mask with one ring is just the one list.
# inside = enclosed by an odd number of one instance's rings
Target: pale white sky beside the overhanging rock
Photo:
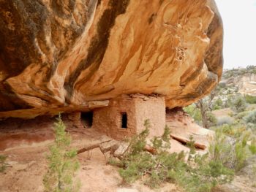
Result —
[[224, 26], [224, 69], [256, 66], [256, 0], [215, 0]]

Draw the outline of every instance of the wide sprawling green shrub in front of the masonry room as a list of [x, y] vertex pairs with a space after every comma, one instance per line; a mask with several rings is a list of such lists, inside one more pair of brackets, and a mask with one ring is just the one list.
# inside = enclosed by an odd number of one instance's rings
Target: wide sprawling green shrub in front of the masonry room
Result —
[[[157, 188], [163, 182], [177, 183], [187, 192], [211, 191], [217, 184], [227, 183], [233, 179], [233, 172], [220, 161], [209, 159], [208, 155], [195, 154], [192, 138], [188, 146], [191, 149], [189, 161], [186, 163], [184, 152], [168, 153], [170, 148], [169, 129], [165, 128], [162, 137], [154, 137], [151, 143], [146, 143], [148, 137], [148, 121], [146, 129], [129, 142], [129, 148], [121, 160], [109, 161], [110, 164], [121, 166], [119, 173], [124, 182], [133, 183], [143, 180], [151, 188]], [[157, 153], [148, 153], [146, 145], [153, 147]]]

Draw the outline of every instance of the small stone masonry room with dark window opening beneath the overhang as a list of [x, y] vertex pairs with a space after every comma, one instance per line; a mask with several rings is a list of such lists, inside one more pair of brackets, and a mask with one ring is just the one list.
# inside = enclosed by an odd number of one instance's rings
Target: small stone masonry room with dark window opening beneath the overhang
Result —
[[[127, 113], [127, 128], [121, 128], [121, 113]], [[151, 123], [151, 136], [165, 128], [165, 99], [159, 96], [121, 96], [108, 107], [94, 110], [93, 126], [114, 139], [124, 139], [143, 131], [146, 119]]]

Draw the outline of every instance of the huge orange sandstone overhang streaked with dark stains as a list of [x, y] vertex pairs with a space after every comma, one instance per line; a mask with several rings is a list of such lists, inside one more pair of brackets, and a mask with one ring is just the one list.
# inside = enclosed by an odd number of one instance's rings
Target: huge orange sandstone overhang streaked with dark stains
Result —
[[167, 107], [182, 107], [222, 74], [213, 0], [15, 0], [0, 7], [0, 118], [89, 110], [130, 93], [159, 94]]

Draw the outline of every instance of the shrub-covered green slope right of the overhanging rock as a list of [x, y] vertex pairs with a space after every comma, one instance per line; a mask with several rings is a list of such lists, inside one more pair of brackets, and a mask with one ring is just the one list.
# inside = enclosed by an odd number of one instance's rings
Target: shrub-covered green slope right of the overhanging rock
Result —
[[[184, 107], [184, 111], [199, 125], [203, 125], [203, 118], [208, 119], [207, 113], [202, 111], [216, 115], [217, 123], [211, 123], [211, 126], [207, 127], [216, 131], [209, 155], [238, 175], [241, 172], [248, 172], [248, 169], [252, 170], [253, 167], [256, 168], [255, 161], [252, 161], [256, 158], [256, 96], [238, 93], [238, 85], [233, 80], [233, 77], [244, 74], [256, 74], [256, 66], [225, 71], [225, 81], [217, 86], [217, 94], [211, 93], [206, 99], [201, 99], [200, 106], [195, 103]], [[248, 174], [243, 177], [256, 177], [256, 171]], [[252, 187], [256, 187], [253, 179], [251, 184]]]

